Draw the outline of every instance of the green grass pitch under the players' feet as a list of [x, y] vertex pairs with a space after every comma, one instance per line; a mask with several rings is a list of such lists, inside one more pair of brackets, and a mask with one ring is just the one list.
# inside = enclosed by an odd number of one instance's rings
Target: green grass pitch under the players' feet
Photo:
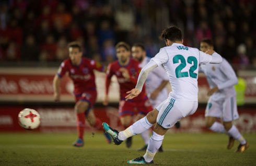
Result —
[[[235, 153], [226, 149], [224, 134], [167, 134], [163, 153], [155, 165], [256, 165], [256, 134], [245, 134], [249, 149]], [[0, 133], [0, 165], [128, 165], [127, 160], [144, 155], [141, 136], [133, 138], [132, 148], [109, 145], [103, 134], [85, 134], [85, 146], [72, 146], [76, 134]]]

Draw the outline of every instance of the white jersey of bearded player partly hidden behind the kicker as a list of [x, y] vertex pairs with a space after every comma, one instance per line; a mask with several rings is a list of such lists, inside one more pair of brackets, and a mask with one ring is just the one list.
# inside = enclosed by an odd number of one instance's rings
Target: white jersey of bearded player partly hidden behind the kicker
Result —
[[[143, 62], [139, 65], [140, 67], [144, 67], [148, 62], [150, 61], [149, 57], [145, 57]], [[146, 92], [147, 92], [147, 96], [150, 97], [150, 94], [159, 87], [159, 85], [161, 84], [161, 82], [163, 80], [168, 80], [167, 74], [165, 72], [165, 69], [162, 66], [159, 66], [157, 68], [154, 68], [154, 70], [152, 70], [152, 72], [150, 72], [147, 76], [146, 79]], [[165, 99], [167, 99], [168, 97], [168, 92], [167, 89], [164, 88], [162, 89], [159, 94], [158, 97], [155, 100], [159, 100], [160, 103], [162, 101], [164, 101]], [[159, 102], [158, 102], [159, 103]], [[152, 103], [153, 104], [153, 103]], [[155, 105], [154, 105], [155, 106]], [[156, 105], [157, 106], [157, 105]]]

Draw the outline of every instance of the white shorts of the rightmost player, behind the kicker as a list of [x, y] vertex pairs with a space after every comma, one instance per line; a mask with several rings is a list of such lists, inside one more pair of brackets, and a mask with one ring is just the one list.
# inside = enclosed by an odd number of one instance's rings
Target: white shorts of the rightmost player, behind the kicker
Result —
[[236, 96], [225, 98], [224, 100], [214, 101], [209, 99], [206, 109], [205, 116], [212, 116], [223, 118], [223, 122], [234, 121], [239, 118], [237, 112], [237, 100]]

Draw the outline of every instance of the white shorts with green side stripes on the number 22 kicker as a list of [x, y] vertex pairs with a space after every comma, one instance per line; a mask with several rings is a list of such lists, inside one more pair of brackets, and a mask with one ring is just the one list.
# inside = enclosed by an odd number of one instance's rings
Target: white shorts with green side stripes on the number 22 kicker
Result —
[[164, 128], [171, 128], [181, 118], [192, 115], [198, 106], [197, 101], [175, 100], [168, 97], [157, 106], [157, 123]]

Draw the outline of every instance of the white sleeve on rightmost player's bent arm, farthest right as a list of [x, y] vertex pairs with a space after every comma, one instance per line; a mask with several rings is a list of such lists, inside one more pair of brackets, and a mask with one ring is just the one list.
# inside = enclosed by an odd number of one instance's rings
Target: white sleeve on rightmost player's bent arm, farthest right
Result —
[[220, 70], [228, 78], [228, 80], [223, 82], [223, 84], [218, 85], [218, 89], [225, 89], [238, 83], [236, 73], [226, 60], [220, 64]]

